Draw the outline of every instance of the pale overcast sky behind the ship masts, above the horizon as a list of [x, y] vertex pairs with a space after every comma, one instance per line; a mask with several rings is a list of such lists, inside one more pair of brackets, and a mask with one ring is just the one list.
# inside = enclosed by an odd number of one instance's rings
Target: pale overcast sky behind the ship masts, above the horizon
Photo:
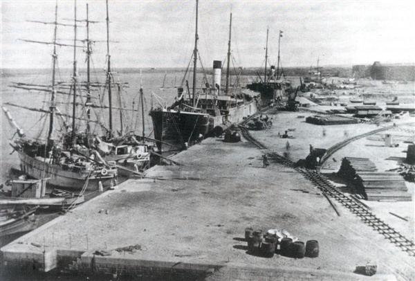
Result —
[[[86, 1], [77, 1], [84, 19]], [[48, 68], [51, 46], [18, 39], [51, 41], [55, 1], [1, 1], [1, 66]], [[195, 1], [109, 1], [111, 63], [116, 67], [185, 67], [194, 45]], [[199, 52], [206, 67], [224, 60], [232, 10], [232, 53], [237, 65], [264, 64], [269, 26], [270, 62], [277, 61], [278, 31], [283, 66], [415, 62], [415, 1], [199, 1]], [[105, 39], [105, 1], [89, 1], [92, 39]], [[59, 1], [58, 20], [71, 23], [73, 1]], [[85, 28], [78, 38], [85, 37]], [[73, 28], [59, 26], [71, 43]], [[73, 50], [59, 47], [59, 66], [70, 67]], [[80, 67], [85, 54], [77, 53]], [[93, 61], [104, 68], [105, 44], [96, 43]]]

